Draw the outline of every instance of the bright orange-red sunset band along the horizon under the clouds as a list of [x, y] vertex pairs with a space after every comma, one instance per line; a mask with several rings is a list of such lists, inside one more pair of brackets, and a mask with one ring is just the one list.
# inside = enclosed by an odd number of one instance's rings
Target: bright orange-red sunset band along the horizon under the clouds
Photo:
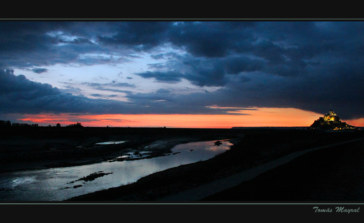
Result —
[[[250, 108], [251, 109], [251, 108]], [[72, 115], [40, 114], [24, 115], [22, 121], [32, 121], [39, 125], [62, 126], [82, 123], [90, 127], [171, 127], [171, 128], [231, 128], [261, 126], [310, 126], [322, 114], [296, 108], [255, 108], [241, 110], [249, 115]], [[364, 119], [349, 120], [350, 125], [363, 126]], [[355, 124], [354, 124], [355, 123]], [[360, 124], [361, 123], [361, 124]]]

